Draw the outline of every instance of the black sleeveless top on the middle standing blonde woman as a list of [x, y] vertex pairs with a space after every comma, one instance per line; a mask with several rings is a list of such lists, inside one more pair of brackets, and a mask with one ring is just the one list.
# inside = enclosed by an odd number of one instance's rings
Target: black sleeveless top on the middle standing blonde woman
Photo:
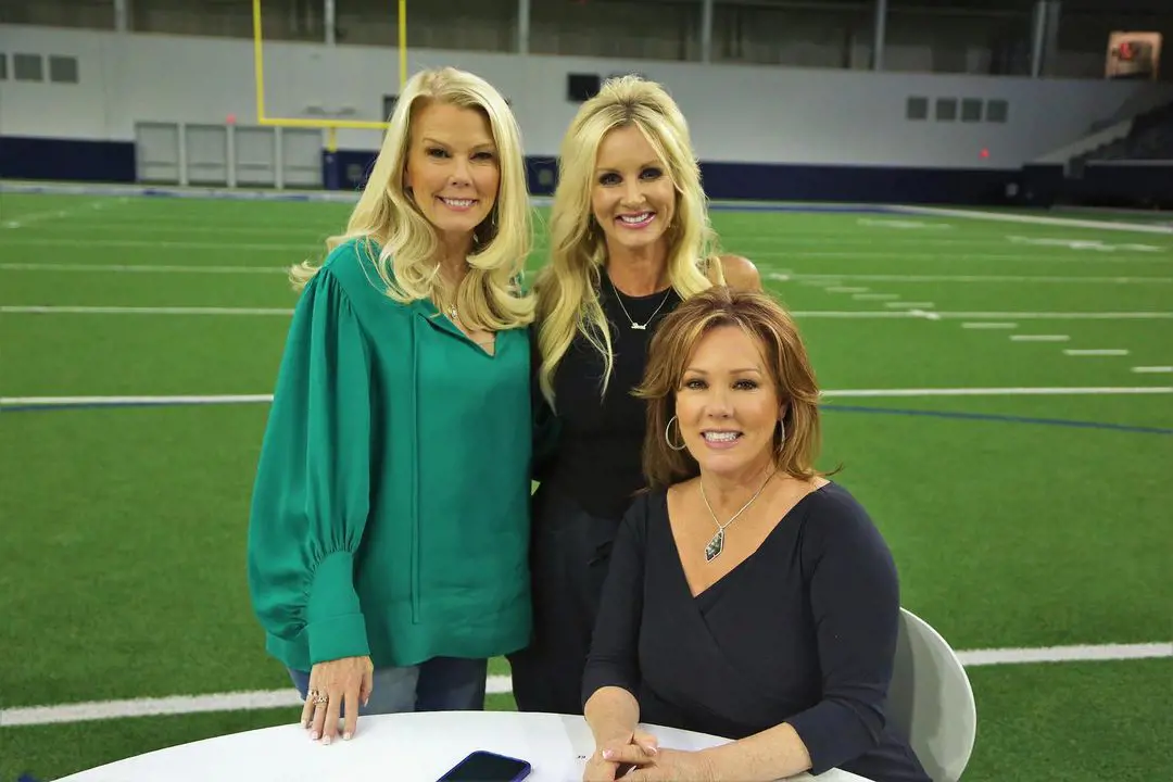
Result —
[[[575, 334], [552, 379], [560, 434], [540, 480], [591, 516], [619, 518], [645, 485], [640, 457], [646, 402], [631, 390], [643, 381], [656, 327], [680, 304], [680, 297], [672, 288], [625, 295], [605, 272], [598, 294], [615, 354], [606, 394], [601, 395], [603, 355], [585, 336]], [[646, 328], [635, 328], [632, 321]]]

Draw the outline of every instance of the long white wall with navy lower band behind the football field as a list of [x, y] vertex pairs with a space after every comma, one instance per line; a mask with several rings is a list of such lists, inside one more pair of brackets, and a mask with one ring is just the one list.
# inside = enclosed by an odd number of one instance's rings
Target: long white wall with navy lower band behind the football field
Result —
[[[137, 122], [242, 125], [257, 116], [250, 41], [0, 26], [12, 53], [77, 60], [76, 83], [0, 81], [0, 176], [130, 182]], [[572, 73], [642, 73], [689, 117], [713, 198], [996, 203], [1030, 161], [1087, 135], [1124, 106], [1173, 100], [1173, 84], [870, 73], [411, 50], [409, 70], [454, 64], [510, 100], [530, 184], [548, 172], [577, 104]], [[265, 110], [274, 117], [382, 118], [398, 91], [395, 49], [266, 42]], [[907, 116], [927, 98], [928, 118]], [[956, 117], [938, 120], [938, 98]], [[963, 121], [963, 102], [981, 117]], [[1004, 121], [991, 120], [1004, 108]], [[339, 131], [343, 170], [365, 170], [379, 132]], [[983, 151], [984, 150], [984, 151]], [[353, 170], [353, 169], [352, 169]], [[348, 181], [344, 186], [357, 186]]]

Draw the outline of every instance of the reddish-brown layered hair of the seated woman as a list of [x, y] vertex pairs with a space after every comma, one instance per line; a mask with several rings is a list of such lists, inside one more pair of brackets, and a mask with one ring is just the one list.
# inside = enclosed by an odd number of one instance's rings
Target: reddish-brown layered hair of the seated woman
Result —
[[800, 480], [838, 471], [815, 469], [821, 447], [819, 382], [793, 318], [765, 293], [714, 286], [669, 313], [649, 346], [647, 368], [636, 389], [636, 396], [647, 402], [643, 469], [649, 487], [669, 487], [700, 472], [687, 449], [669, 444], [667, 430], [689, 360], [700, 340], [723, 326], [741, 328], [758, 342], [769, 382], [786, 408], [782, 428], [774, 430], [772, 457], [778, 471]]

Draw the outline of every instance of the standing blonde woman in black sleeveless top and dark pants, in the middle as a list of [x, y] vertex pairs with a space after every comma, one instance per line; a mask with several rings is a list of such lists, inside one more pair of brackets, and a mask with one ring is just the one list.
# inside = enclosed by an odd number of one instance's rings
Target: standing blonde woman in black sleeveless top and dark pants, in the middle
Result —
[[672, 98], [626, 76], [586, 101], [563, 141], [550, 264], [536, 284], [538, 387], [558, 436], [534, 497], [534, 635], [510, 655], [517, 707], [582, 713], [582, 672], [611, 542], [644, 485], [647, 339], [711, 285], [759, 287], [713, 256], [700, 172]]

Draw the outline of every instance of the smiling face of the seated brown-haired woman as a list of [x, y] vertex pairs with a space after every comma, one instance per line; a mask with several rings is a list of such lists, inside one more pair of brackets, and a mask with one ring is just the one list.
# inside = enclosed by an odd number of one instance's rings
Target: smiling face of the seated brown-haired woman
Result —
[[676, 415], [701, 470], [737, 476], [769, 463], [781, 401], [759, 340], [739, 326], [705, 334], [685, 363]]

